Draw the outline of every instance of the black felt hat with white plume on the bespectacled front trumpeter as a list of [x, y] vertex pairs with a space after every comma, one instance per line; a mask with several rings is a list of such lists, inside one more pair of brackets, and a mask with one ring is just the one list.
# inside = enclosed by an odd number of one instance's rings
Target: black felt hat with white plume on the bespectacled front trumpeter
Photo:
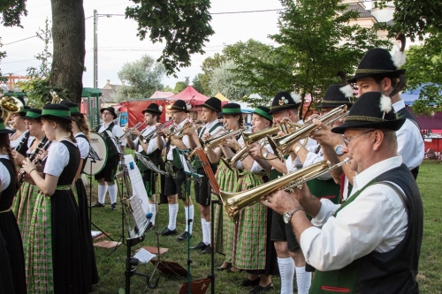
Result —
[[379, 92], [362, 94], [354, 105], [344, 124], [332, 128], [331, 132], [344, 133], [346, 129], [387, 129], [398, 131], [405, 122], [405, 117], [398, 118], [392, 108], [392, 100]]

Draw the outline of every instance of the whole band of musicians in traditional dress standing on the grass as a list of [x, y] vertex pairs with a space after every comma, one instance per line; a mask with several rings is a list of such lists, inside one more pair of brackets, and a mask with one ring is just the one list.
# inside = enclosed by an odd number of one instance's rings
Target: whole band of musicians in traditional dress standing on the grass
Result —
[[[292, 294], [294, 281], [298, 293], [418, 293], [423, 206], [415, 179], [423, 139], [400, 99], [404, 74], [388, 51], [370, 49], [352, 79], [328, 87], [317, 105], [320, 116], [303, 122], [300, 97], [282, 91], [270, 108], [255, 109], [252, 133], [245, 131], [240, 104], [222, 106], [215, 97], [200, 105], [199, 121], [178, 100], [167, 109], [171, 121], [160, 124], [166, 109], [151, 103], [140, 110], [141, 131], [123, 130], [113, 122], [115, 110], [103, 108], [95, 132], [106, 139], [108, 158], [95, 174], [92, 207], [105, 207], [109, 193], [110, 208], [117, 209], [115, 176], [121, 151], [130, 147], [165, 171], [160, 177], [137, 162], [152, 213], [147, 231], [156, 228], [156, 196], [162, 195], [169, 218], [158, 233], [191, 239], [200, 253], [222, 254], [217, 270], [244, 271], [238, 281], [244, 292], [271, 290], [279, 275], [281, 294]], [[347, 82], [357, 86], [355, 101]], [[344, 116], [321, 118], [341, 109]], [[307, 127], [307, 136], [286, 148], [279, 144]], [[121, 148], [106, 131], [120, 138]], [[88, 293], [98, 283], [80, 178], [89, 132], [72, 102], [25, 107], [0, 120], [0, 293]], [[303, 180], [304, 170], [321, 164], [332, 169]], [[276, 181], [284, 187], [273, 188]], [[247, 205], [229, 204], [239, 198]], [[220, 205], [211, 219], [214, 200]], [[177, 220], [186, 230], [177, 231]], [[197, 236], [193, 227], [200, 223]]]

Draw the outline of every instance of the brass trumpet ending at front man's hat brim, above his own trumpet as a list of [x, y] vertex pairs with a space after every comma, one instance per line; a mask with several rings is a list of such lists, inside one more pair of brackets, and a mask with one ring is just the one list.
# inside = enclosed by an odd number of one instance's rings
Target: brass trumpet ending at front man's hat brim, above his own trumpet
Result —
[[[348, 115], [347, 105], [341, 105], [336, 109], [331, 110], [326, 115], [319, 117], [317, 119], [321, 121], [323, 124], [332, 124], [342, 117], [347, 117], [347, 115]], [[294, 144], [299, 142], [301, 139], [309, 138], [311, 133], [316, 131], [318, 128], [319, 127], [316, 124], [310, 122], [309, 124], [302, 125], [301, 128], [298, 129], [296, 132], [292, 132], [288, 135], [280, 136], [275, 139], [272, 139], [271, 137], [268, 136], [267, 139], [269, 140], [269, 144], [271, 145], [271, 148], [275, 152], [275, 155], [277, 155], [282, 160], [284, 155], [290, 153], [290, 150]]]

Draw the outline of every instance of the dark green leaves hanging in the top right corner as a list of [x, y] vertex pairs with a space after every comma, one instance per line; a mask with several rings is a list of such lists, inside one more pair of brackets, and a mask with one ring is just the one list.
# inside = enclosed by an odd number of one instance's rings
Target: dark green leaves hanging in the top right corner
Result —
[[[378, 0], [375, 6], [383, 8], [391, 0]], [[442, 2], [440, 0], [394, 0], [395, 11], [390, 35], [404, 33], [411, 41], [423, 40], [425, 34], [442, 30]]]

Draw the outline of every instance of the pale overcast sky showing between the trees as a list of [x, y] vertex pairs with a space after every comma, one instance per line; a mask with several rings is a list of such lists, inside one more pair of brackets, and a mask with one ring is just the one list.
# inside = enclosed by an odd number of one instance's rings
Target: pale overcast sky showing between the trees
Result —
[[[83, 86], [93, 86], [93, 31], [94, 10], [98, 14], [124, 14], [126, 6], [131, 4], [127, 0], [84, 0], [86, 18], [86, 59], [87, 72], [83, 74]], [[277, 10], [281, 8], [278, 0], [212, 0], [210, 12], [230, 11], [262, 11]], [[27, 0], [28, 16], [22, 19], [23, 28], [0, 27], [0, 36], [7, 52], [2, 64], [4, 74], [14, 73], [26, 75], [27, 67], [38, 67], [39, 61], [34, 56], [42, 52], [43, 42], [38, 38], [19, 41], [35, 34], [39, 27], [44, 27], [46, 18], [51, 19], [50, 0]], [[194, 55], [192, 66], [182, 68], [178, 72], [179, 79], [165, 77], [164, 85], [174, 87], [178, 80], [185, 77], [194, 79], [201, 72], [202, 61], [221, 52], [225, 45], [237, 41], [255, 39], [267, 44], [273, 44], [268, 39], [269, 34], [278, 33], [278, 11], [265, 11], [255, 13], [215, 14], [212, 16], [211, 26], [215, 34], [206, 44], [205, 55]], [[120, 84], [118, 71], [126, 62], [139, 59], [143, 54], [159, 57], [163, 49], [161, 43], [152, 44], [149, 40], [140, 41], [136, 36], [137, 23], [132, 19], [122, 16], [107, 18], [100, 16], [98, 19], [98, 87], [103, 87], [107, 79], [111, 84]], [[12, 41], [18, 41], [8, 44]]]

